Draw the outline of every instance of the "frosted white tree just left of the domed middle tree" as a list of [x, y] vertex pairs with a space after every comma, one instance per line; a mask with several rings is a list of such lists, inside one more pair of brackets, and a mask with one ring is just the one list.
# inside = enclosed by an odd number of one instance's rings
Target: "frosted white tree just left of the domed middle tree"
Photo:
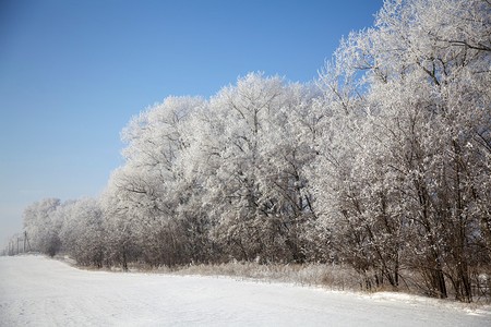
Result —
[[169, 97], [133, 118], [123, 130], [127, 162], [112, 174], [104, 197], [107, 223], [123, 263], [127, 250], [134, 252], [135, 246], [155, 265], [187, 258], [188, 229], [182, 229], [178, 208], [188, 202], [189, 190], [177, 162], [189, 146], [182, 124], [204, 105], [201, 98]]

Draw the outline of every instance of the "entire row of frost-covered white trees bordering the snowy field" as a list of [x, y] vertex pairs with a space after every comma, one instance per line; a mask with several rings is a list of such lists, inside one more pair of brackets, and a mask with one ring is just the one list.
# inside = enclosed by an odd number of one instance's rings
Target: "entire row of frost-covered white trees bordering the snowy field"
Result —
[[25, 209], [32, 247], [97, 267], [328, 263], [367, 289], [489, 296], [490, 13], [385, 1], [316, 81], [166, 98], [122, 131], [100, 196]]

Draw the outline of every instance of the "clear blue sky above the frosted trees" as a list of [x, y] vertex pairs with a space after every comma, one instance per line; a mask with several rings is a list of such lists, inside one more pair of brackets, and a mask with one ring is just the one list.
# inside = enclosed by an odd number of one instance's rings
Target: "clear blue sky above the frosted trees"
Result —
[[31, 203], [98, 195], [132, 116], [252, 71], [309, 82], [382, 2], [0, 0], [0, 246]]

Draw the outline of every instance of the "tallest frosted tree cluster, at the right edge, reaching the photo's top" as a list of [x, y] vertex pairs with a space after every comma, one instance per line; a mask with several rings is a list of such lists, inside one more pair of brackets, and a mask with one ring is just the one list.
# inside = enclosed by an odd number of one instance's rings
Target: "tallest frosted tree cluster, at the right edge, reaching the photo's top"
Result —
[[446, 296], [450, 280], [466, 301], [470, 265], [489, 258], [490, 9], [386, 1], [322, 75], [340, 112], [316, 185], [327, 234], [346, 230], [344, 257], [391, 284], [403, 256], [430, 293]]

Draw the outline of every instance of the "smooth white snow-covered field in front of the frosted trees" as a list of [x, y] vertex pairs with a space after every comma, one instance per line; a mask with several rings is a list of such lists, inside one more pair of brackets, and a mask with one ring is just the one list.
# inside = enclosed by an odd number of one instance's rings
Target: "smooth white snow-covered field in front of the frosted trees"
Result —
[[231, 278], [86, 271], [0, 257], [1, 326], [491, 326], [491, 310]]

